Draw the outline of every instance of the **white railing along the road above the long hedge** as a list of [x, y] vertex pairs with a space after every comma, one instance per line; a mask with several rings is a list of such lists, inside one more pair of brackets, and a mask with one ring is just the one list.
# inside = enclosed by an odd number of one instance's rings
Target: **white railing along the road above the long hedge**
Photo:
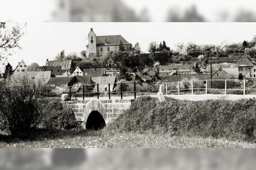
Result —
[[[217, 93], [224, 91], [225, 95], [228, 94], [229, 91], [238, 91], [245, 95], [246, 82], [248, 83], [248, 80], [188, 80], [170, 82], [166, 83], [166, 95], [172, 92], [178, 92], [178, 95], [182, 92], [186, 92], [186, 94], [194, 94], [195, 90], [199, 90], [201, 93], [204, 92], [204, 94], [212, 94], [210, 91], [217, 91]], [[173, 90], [173, 88], [176, 89]]]

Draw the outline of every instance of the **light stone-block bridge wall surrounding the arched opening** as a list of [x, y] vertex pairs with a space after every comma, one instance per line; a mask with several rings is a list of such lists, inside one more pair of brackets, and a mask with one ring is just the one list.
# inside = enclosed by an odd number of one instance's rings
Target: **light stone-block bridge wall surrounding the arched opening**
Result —
[[[113, 121], [122, 114], [122, 111], [128, 109], [133, 101], [132, 99], [74, 100], [62, 102], [62, 106], [73, 109], [76, 119], [83, 122], [82, 127], [85, 129], [88, 128], [86, 124], [89, 125], [89, 123], [104, 121], [105, 125], [105, 123]], [[100, 114], [96, 116], [95, 113]]]

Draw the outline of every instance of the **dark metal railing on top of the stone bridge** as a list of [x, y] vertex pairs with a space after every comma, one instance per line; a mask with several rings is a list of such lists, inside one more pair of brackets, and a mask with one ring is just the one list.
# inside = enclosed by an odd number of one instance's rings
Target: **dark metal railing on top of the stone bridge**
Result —
[[[80, 86], [70, 86], [69, 88], [69, 98], [71, 100], [72, 96], [81, 96], [83, 97], [83, 100], [85, 97], [92, 97], [92, 96], [97, 96], [97, 98], [100, 98], [100, 94], [108, 94], [108, 98], [111, 99], [111, 94], [119, 94], [121, 99], [123, 99], [123, 94], [124, 93], [133, 93], [134, 99], [136, 99], [136, 83], [137, 82], [117, 82], [117, 83], [96, 83], [96, 84], [86, 84], [86, 85], [80, 85]], [[115, 91], [114, 88], [120, 84], [120, 91]], [[133, 84], [133, 91], [124, 91], [124, 84]], [[101, 89], [99, 88], [101, 86]], [[93, 90], [87, 90], [87, 88], [93, 88]], [[104, 87], [104, 88], [103, 88]], [[72, 89], [75, 89], [75, 93], [72, 93]], [[80, 93], [80, 88], [82, 88], [82, 93]], [[104, 91], [101, 91], [102, 88]], [[78, 90], [77, 90], [78, 89]], [[112, 89], [112, 90], [111, 90]], [[88, 92], [86, 92], [88, 91]], [[78, 93], [76, 93], [78, 92]]]

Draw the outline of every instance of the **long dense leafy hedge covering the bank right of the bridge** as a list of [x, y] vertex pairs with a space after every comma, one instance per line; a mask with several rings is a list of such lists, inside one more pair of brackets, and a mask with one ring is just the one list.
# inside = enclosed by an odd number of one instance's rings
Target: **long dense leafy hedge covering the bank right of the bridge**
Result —
[[165, 129], [174, 135], [256, 140], [256, 100], [181, 101], [140, 97], [111, 128], [116, 131]]

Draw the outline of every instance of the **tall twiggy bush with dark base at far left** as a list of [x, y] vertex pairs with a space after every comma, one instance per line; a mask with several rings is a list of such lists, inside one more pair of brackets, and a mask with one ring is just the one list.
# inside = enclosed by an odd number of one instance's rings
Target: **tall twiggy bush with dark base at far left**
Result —
[[43, 84], [24, 74], [7, 79], [1, 86], [2, 129], [12, 135], [22, 135], [38, 123], [37, 99]]

